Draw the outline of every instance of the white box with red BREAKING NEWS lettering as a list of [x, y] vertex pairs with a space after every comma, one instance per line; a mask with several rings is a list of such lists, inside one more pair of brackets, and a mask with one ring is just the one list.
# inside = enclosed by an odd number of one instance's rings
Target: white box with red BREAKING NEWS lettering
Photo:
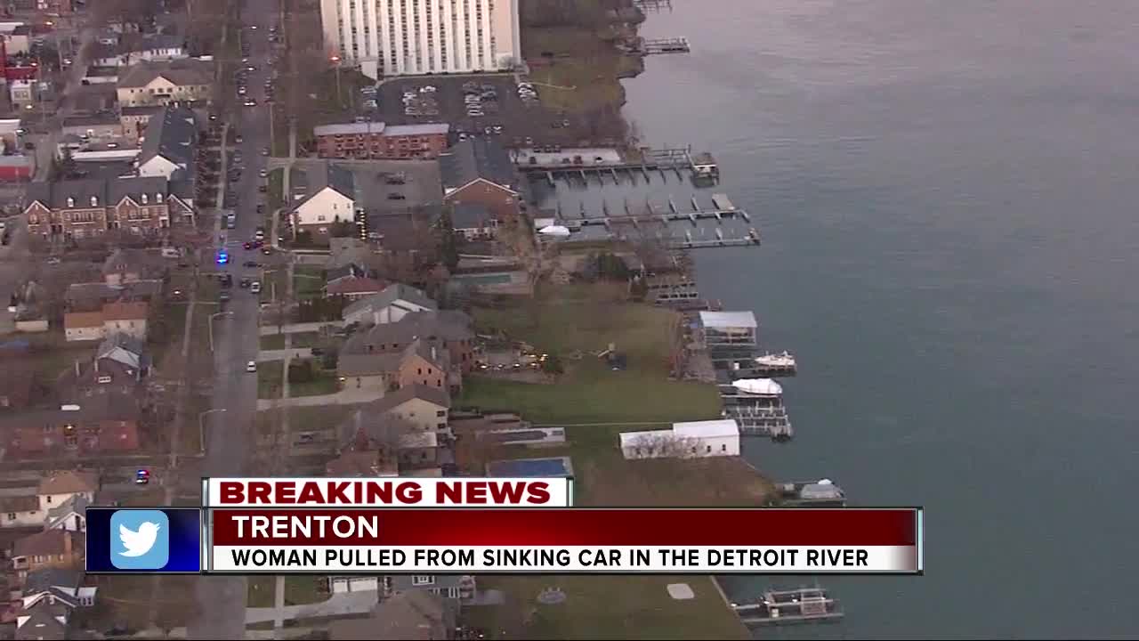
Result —
[[206, 478], [206, 508], [568, 508], [572, 478]]

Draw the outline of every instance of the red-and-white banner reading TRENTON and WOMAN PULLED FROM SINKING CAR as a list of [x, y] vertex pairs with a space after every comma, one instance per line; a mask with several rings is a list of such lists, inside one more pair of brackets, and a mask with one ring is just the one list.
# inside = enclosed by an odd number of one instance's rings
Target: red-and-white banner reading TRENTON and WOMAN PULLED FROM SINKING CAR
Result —
[[920, 509], [210, 509], [216, 574], [920, 574]]

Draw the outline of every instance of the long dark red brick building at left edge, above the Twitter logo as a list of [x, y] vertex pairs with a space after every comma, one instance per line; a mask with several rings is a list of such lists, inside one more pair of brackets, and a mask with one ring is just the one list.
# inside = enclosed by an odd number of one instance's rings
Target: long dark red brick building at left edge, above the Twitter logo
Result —
[[103, 393], [58, 408], [0, 416], [6, 456], [124, 453], [139, 447], [140, 412], [133, 397]]

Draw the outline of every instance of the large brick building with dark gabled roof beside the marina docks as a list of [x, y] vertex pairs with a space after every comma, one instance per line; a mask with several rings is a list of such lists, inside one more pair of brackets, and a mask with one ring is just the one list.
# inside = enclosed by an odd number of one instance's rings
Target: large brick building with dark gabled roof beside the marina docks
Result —
[[521, 179], [497, 140], [467, 138], [441, 155], [439, 163], [444, 203], [481, 203], [499, 221], [518, 214]]

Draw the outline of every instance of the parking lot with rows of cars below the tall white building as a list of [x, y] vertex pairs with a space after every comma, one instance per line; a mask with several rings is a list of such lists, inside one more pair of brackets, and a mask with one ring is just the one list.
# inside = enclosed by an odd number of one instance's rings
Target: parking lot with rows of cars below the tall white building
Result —
[[[435, 90], [420, 91], [424, 87]], [[480, 108], [475, 113], [481, 115], [470, 115], [466, 96], [474, 95], [476, 87]], [[541, 103], [544, 89], [535, 84], [534, 90], [536, 99], [524, 102], [514, 76], [500, 74], [395, 79], [379, 87], [375, 117], [388, 124], [448, 122], [457, 133], [499, 136], [508, 147], [525, 146], [526, 138], [538, 145], [579, 144], [585, 123], [547, 109]], [[412, 111], [419, 115], [408, 113], [404, 95], [415, 97]]]

